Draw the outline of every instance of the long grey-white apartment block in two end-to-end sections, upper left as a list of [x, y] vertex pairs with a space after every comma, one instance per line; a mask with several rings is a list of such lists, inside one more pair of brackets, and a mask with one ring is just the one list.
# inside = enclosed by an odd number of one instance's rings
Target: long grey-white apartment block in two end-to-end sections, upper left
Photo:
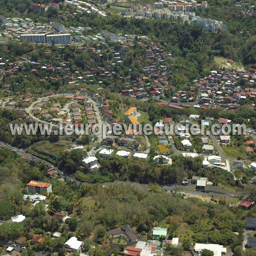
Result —
[[35, 43], [47, 43], [51, 44], [52, 41], [55, 44], [67, 44], [71, 42], [70, 34], [58, 34], [58, 35], [45, 35], [45, 34], [24, 34], [20, 35], [20, 41], [27, 40]]

